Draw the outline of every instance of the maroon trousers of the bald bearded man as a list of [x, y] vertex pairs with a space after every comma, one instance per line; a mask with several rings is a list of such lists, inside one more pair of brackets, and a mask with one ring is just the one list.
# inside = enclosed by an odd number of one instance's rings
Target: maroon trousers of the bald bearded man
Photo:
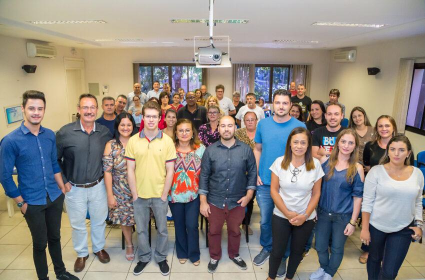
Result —
[[215, 207], [211, 203], [208, 203], [208, 205], [211, 210], [208, 217], [209, 256], [217, 260], [221, 258], [221, 229], [223, 228], [224, 221], [226, 221], [227, 253], [230, 258], [233, 258], [239, 253], [239, 226], [245, 216], [245, 207], [236, 206], [229, 210], [227, 204], [224, 209]]

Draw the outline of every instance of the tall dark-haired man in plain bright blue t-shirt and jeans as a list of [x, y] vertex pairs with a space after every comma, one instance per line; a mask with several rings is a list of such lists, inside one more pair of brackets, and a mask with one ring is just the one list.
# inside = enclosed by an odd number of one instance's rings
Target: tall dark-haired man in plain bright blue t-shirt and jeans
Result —
[[274, 160], [285, 152], [287, 138], [295, 127], [305, 124], [289, 115], [292, 105], [291, 94], [286, 89], [277, 89], [273, 93], [273, 117], [261, 119], [255, 132], [254, 155], [258, 176], [256, 199], [260, 209], [260, 237], [262, 246], [253, 263], [261, 265], [269, 257], [271, 251], [271, 216], [274, 203], [270, 196], [271, 171], [268, 169]]

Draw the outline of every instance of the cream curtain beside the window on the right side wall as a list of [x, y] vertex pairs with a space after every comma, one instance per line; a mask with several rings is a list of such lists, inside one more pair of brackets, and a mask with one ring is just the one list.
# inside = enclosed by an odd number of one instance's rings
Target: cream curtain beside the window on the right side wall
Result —
[[392, 106], [392, 117], [394, 117], [395, 123], [397, 124], [397, 130], [400, 133], [404, 133], [406, 125], [413, 66], [414, 59], [400, 59], [397, 85], [395, 87], [394, 105]]

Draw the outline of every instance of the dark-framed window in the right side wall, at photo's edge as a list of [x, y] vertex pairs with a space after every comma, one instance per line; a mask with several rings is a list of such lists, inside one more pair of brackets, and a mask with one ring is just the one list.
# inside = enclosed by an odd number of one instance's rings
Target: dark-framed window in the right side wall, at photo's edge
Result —
[[406, 130], [425, 135], [425, 63], [414, 63]]

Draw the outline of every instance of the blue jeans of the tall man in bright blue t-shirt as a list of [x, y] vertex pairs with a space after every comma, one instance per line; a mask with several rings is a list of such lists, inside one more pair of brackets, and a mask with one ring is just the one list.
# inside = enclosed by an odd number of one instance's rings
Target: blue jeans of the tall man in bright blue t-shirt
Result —
[[263, 184], [256, 187], [256, 199], [260, 214], [259, 243], [263, 249], [271, 251], [271, 216], [273, 215], [274, 202], [270, 195], [270, 185]]

